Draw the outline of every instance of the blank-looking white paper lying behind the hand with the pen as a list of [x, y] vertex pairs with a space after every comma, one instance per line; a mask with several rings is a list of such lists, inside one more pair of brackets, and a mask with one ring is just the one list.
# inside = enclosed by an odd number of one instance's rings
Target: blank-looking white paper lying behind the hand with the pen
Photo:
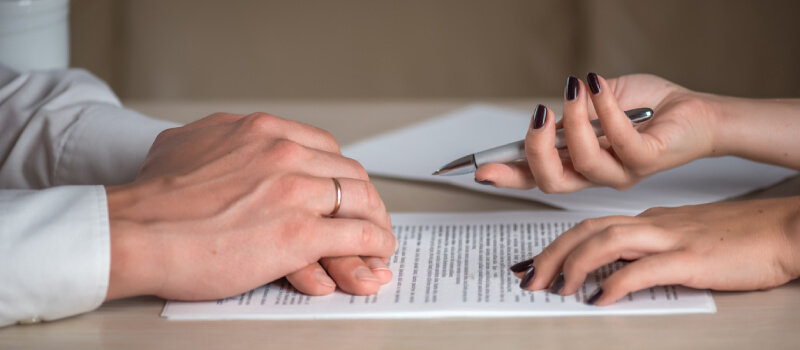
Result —
[[[500, 189], [475, 183], [472, 174], [432, 176], [442, 165], [470, 153], [521, 140], [530, 112], [472, 105], [380, 135], [342, 153], [379, 176], [445, 182], [472, 190], [531, 199], [568, 210], [625, 210], [715, 202], [764, 188], [797, 174], [735, 157], [707, 158], [656, 174], [628, 191], [590, 188], [568, 194]], [[658, 118], [658, 115], [655, 116]]]

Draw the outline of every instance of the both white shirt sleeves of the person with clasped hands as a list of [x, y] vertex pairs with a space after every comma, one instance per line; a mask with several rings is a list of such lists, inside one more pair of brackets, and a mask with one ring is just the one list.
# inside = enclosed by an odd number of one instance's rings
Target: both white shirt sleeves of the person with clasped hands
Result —
[[101, 185], [132, 181], [176, 124], [124, 109], [82, 70], [0, 65], [0, 326], [98, 307], [110, 268]]

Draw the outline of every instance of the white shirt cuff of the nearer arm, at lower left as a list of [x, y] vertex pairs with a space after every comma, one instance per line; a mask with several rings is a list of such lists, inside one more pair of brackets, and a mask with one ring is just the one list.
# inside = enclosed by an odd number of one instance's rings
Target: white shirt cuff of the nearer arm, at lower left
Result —
[[103, 186], [0, 191], [0, 327], [91, 311], [111, 263]]

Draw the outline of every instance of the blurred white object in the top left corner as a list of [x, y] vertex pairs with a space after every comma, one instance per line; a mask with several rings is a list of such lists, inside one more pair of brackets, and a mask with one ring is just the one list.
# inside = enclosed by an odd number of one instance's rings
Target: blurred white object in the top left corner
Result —
[[0, 62], [19, 72], [69, 66], [69, 0], [0, 0]]

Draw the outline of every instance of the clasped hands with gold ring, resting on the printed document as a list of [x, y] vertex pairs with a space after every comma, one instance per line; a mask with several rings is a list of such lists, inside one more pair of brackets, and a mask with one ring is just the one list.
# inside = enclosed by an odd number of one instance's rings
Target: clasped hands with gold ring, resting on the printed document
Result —
[[[343, 193], [334, 218], [331, 177]], [[284, 276], [312, 295], [372, 294], [392, 277], [397, 240], [378, 193], [305, 124], [220, 113], [166, 130], [136, 180], [106, 191], [107, 300], [216, 299]]]

